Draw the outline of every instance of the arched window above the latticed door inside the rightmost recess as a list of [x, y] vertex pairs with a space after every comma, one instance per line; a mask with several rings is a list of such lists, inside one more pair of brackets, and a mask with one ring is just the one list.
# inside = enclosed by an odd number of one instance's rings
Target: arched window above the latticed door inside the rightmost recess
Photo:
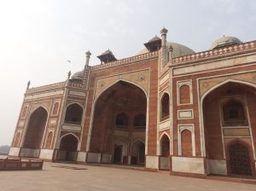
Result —
[[246, 115], [241, 102], [230, 100], [223, 105], [224, 125], [236, 126], [246, 124]]

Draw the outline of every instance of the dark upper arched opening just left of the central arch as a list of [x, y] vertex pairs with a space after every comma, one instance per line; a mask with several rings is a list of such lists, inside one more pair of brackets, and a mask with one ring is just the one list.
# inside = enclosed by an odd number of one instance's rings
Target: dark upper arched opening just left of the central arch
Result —
[[65, 116], [66, 124], [81, 124], [83, 115], [83, 108], [79, 104], [74, 103], [67, 107]]

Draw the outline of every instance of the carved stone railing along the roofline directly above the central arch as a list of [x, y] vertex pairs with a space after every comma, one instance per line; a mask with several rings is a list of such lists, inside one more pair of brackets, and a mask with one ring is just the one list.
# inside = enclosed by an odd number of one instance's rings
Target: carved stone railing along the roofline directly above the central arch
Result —
[[153, 58], [156, 56], [158, 56], [158, 51], [146, 53], [143, 55], [135, 55], [135, 56], [132, 56], [129, 58], [119, 60], [119, 61], [111, 61], [111, 62], [104, 63], [101, 65], [96, 65], [94, 67], [90, 67], [90, 69], [91, 69], [91, 71], [96, 71], [96, 70], [100, 70], [102, 68], [117, 67], [117, 66], [128, 64], [128, 63], [135, 62], [135, 61], [143, 61], [143, 60], [150, 59], [150, 58]]

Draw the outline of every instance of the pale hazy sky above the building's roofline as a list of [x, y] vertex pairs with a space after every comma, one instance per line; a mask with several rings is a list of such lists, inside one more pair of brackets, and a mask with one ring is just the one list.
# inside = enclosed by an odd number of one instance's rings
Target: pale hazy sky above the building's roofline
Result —
[[107, 49], [117, 59], [136, 55], [163, 26], [169, 41], [195, 51], [223, 35], [256, 40], [256, 1], [1, 0], [0, 145], [12, 140], [28, 80], [66, 80], [83, 69], [88, 49], [90, 65]]

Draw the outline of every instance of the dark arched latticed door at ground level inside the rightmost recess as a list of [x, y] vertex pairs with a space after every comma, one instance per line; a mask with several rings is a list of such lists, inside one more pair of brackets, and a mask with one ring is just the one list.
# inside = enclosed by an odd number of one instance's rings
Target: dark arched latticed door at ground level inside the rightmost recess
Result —
[[230, 174], [252, 176], [252, 162], [249, 149], [241, 142], [233, 142], [228, 147]]

